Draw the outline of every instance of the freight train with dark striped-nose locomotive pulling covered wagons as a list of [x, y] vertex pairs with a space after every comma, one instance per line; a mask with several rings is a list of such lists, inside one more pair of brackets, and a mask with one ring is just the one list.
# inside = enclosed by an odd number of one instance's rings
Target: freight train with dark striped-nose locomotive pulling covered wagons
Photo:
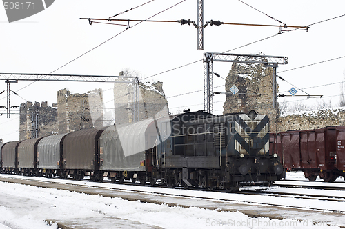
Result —
[[185, 112], [0, 145], [1, 172], [238, 190], [285, 177], [266, 115]]

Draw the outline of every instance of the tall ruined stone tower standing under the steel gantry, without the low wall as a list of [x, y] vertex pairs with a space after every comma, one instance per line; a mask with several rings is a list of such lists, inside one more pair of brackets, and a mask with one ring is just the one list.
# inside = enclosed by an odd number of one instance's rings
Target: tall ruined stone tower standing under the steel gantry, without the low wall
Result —
[[[276, 119], [279, 116], [279, 104], [273, 107], [273, 68], [258, 63], [233, 63], [226, 78], [226, 101], [224, 114], [233, 112], [248, 113], [255, 110], [270, 118], [270, 131], [276, 129]], [[230, 88], [236, 86], [237, 94], [232, 94]], [[276, 83], [278, 91], [278, 84]]]

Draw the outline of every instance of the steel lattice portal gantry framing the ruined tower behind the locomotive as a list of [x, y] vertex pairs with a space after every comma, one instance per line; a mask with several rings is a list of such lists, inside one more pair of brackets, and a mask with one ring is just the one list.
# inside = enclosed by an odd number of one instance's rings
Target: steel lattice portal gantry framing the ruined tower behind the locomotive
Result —
[[276, 72], [279, 64], [288, 64], [288, 57], [253, 55], [253, 54], [231, 54], [231, 53], [204, 53], [204, 110], [213, 114], [213, 61], [219, 62], [235, 62], [235, 63], [261, 63], [268, 67], [273, 67], [273, 94], [274, 101], [277, 103]]

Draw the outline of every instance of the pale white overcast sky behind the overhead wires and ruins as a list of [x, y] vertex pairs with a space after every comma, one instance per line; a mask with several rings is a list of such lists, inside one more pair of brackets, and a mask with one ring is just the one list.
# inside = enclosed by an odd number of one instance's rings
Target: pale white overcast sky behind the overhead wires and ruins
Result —
[[[52, 6], [38, 14], [8, 23], [4, 8], [0, 7], [0, 72], [48, 74], [72, 61], [81, 54], [95, 48], [103, 41], [126, 30], [126, 26], [92, 24], [79, 20], [80, 17], [108, 18], [124, 10], [129, 10], [147, 1], [55, 1]], [[289, 26], [307, 26], [344, 14], [344, 1], [254, 1], [246, 0], [262, 12], [279, 19]], [[155, 0], [125, 14], [118, 19], [147, 19], [166, 10], [179, 1]], [[187, 0], [158, 14], [152, 20], [191, 19], [197, 21], [197, 0]], [[220, 20], [227, 23], [261, 23], [279, 25], [273, 19], [253, 10], [240, 1], [205, 0], [204, 21]], [[205, 52], [226, 52], [286, 56], [289, 63], [279, 66], [278, 75], [293, 83], [297, 88], [306, 89], [309, 94], [323, 94], [324, 100], [331, 99], [333, 106], [339, 103], [340, 84], [344, 80], [345, 58], [328, 61], [306, 68], [290, 70], [319, 61], [344, 57], [345, 17], [318, 23], [309, 32], [293, 31], [270, 39], [239, 48], [253, 41], [273, 36], [278, 28], [253, 26], [207, 26], [204, 30], [204, 50], [197, 50], [197, 29], [179, 23], [140, 23], [126, 30], [110, 41], [92, 50], [83, 57], [55, 71], [55, 74], [96, 74], [117, 76], [121, 70], [129, 68], [138, 72], [140, 78], [150, 77], [150, 81], [163, 81], [171, 112], [184, 108], [204, 109], [204, 94], [197, 92], [180, 97], [177, 94], [203, 89], [203, 63], [199, 61], [184, 68], [159, 74], [187, 63], [201, 60]], [[134, 26], [131, 22], [130, 26]], [[237, 48], [237, 49], [236, 49]], [[226, 77], [230, 63], [214, 63], [213, 70]], [[290, 70], [284, 72], [286, 70]], [[279, 74], [279, 72], [282, 72]], [[28, 101], [57, 102], [56, 92], [68, 88], [72, 93], [84, 93], [95, 88], [107, 90], [112, 83], [66, 83], [37, 82], [24, 89], [31, 82], [12, 83], [11, 105]], [[287, 94], [291, 85], [278, 79], [279, 93]], [[337, 83], [331, 86], [322, 86]], [[224, 79], [215, 77], [214, 86], [224, 85]], [[322, 86], [322, 87], [321, 87]], [[6, 83], [0, 85], [0, 92], [6, 90]], [[112, 91], [112, 90], [108, 90]], [[215, 88], [223, 91], [224, 87]], [[303, 94], [298, 92], [298, 94]], [[287, 97], [285, 101], [305, 101], [304, 97]], [[108, 101], [104, 99], [104, 101]], [[224, 94], [214, 97], [215, 114], [222, 112]], [[221, 102], [217, 102], [221, 101]], [[284, 101], [284, 99], [279, 99]], [[309, 99], [316, 103], [320, 99]], [[199, 104], [195, 106], [195, 104]], [[0, 95], [0, 106], [6, 106], [6, 92]], [[105, 104], [113, 106], [112, 103]], [[0, 116], [0, 138], [3, 141], [19, 139], [19, 115]]]

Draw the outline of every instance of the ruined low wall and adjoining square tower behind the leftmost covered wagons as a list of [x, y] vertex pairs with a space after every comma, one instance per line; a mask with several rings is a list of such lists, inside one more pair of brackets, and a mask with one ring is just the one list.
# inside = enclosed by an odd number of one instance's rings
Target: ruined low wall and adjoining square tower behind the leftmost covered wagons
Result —
[[57, 103], [52, 107], [47, 106], [47, 102], [21, 103], [19, 139], [101, 128], [102, 101], [101, 89], [85, 94], [71, 94], [70, 91], [62, 89], [57, 92]]

